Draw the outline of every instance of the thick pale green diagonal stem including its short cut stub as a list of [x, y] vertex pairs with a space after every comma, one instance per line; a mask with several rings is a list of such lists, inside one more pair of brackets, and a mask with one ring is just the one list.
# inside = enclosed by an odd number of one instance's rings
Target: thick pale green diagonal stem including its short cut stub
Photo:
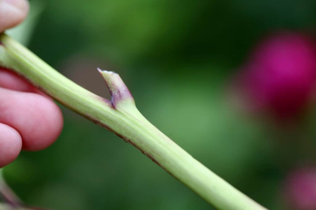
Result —
[[1, 66], [12, 69], [66, 107], [133, 144], [217, 209], [265, 209], [146, 120], [118, 74], [99, 70], [112, 95], [109, 101], [76, 85], [5, 34], [0, 35], [0, 43]]

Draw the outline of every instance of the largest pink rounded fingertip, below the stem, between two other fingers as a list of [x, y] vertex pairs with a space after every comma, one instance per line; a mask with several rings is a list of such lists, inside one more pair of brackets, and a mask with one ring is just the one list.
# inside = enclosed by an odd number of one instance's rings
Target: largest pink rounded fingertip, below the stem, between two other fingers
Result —
[[0, 122], [15, 128], [22, 149], [37, 151], [50, 146], [63, 128], [61, 110], [50, 98], [0, 88]]

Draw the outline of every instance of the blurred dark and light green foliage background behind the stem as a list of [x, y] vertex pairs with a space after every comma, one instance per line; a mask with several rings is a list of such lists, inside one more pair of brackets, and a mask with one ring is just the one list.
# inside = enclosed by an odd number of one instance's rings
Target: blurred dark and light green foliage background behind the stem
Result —
[[[286, 198], [287, 178], [297, 168], [314, 167], [313, 103], [299, 118], [280, 122], [248, 112], [234, 84], [266, 36], [313, 36], [315, 1], [30, 3], [29, 19], [9, 33], [44, 61], [108, 98], [96, 68], [119, 73], [143, 115], [193, 157], [265, 207], [295, 208]], [[7, 182], [28, 205], [212, 209], [130, 144], [61, 108], [64, 129], [56, 143], [22, 152], [4, 168]]]

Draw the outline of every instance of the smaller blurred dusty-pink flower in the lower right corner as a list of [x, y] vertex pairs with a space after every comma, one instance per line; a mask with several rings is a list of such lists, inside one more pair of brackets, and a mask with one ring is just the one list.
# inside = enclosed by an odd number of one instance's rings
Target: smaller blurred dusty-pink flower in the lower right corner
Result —
[[285, 201], [293, 210], [316, 210], [316, 168], [300, 168], [285, 181]]

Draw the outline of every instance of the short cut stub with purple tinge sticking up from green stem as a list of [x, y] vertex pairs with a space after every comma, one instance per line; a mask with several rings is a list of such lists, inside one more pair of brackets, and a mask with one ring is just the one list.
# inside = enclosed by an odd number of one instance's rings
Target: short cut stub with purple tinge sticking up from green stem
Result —
[[100, 68], [98, 68], [98, 71], [110, 90], [112, 96], [111, 101], [114, 108], [120, 109], [123, 104], [124, 106], [135, 106], [134, 98], [119, 74], [112, 71], [101, 70]]

